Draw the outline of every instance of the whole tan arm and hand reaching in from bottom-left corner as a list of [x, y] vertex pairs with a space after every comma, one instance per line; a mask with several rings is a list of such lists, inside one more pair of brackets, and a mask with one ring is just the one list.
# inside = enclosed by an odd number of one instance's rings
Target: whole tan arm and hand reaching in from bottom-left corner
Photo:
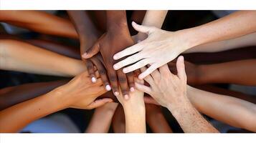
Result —
[[113, 102], [109, 98], [95, 100], [105, 92], [100, 79], [93, 84], [87, 72], [83, 72], [52, 92], [2, 110], [0, 132], [18, 132], [30, 122], [68, 107], [94, 109]]

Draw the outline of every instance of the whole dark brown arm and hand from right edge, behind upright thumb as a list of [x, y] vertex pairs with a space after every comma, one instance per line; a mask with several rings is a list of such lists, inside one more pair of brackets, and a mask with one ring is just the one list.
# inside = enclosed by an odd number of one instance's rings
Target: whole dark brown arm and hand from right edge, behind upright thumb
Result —
[[[255, 86], [256, 59], [229, 61], [219, 64], [192, 64], [185, 61], [189, 84], [242, 84]], [[175, 71], [175, 63], [170, 62], [171, 71]], [[175, 73], [175, 72], [174, 72]]]

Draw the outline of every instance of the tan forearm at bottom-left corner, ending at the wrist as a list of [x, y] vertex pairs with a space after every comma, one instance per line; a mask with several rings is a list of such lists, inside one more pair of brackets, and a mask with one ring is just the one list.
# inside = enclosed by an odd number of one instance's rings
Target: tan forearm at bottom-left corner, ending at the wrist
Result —
[[65, 109], [62, 95], [53, 91], [0, 112], [0, 132], [19, 132], [36, 119]]

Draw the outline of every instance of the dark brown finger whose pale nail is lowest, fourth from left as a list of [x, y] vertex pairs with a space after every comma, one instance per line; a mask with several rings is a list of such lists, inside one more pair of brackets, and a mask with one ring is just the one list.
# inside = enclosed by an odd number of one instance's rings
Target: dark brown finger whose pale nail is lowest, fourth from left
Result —
[[125, 99], [129, 99], [129, 87], [126, 74], [123, 73], [122, 69], [117, 71], [118, 73], [118, 82], [120, 84], [120, 89]]

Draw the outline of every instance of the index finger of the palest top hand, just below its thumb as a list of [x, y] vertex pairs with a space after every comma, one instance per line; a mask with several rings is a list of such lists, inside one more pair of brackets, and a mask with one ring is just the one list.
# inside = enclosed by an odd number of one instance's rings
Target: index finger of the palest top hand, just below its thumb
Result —
[[113, 59], [115, 59], [115, 60], [121, 59], [124, 56], [128, 56], [128, 55], [134, 54], [138, 51], [141, 51], [141, 49], [143, 49], [143, 46], [141, 46], [141, 44], [142, 44], [142, 42], [139, 44], [130, 46], [130, 47], [124, 49], [123, 51], [119, 51], [118, 53], [114, 54]]

